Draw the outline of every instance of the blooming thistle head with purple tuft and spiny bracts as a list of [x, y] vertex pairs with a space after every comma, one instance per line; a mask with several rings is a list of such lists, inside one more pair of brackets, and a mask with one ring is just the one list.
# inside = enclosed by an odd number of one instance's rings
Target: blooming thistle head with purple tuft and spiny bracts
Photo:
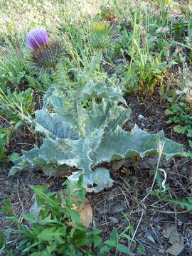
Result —
[[53, 73], [64, 57], [63, 44], [50, 42], [46, 29], [41, 27], [33, 28], [27, 33], [26, 46], [31, 50], [29, 63], [36, 72]]

